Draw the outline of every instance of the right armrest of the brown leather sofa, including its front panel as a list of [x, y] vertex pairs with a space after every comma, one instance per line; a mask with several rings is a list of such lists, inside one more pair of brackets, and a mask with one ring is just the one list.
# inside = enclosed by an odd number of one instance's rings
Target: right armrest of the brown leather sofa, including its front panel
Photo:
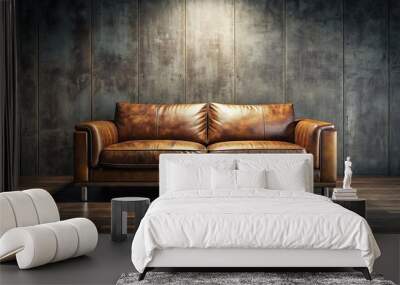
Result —
[[328, 122], [302, 119], [297, 122], [294, 141], [314, 156], [314, 168], [320, 169], [322, 182], [336, 181], [337, 132]]

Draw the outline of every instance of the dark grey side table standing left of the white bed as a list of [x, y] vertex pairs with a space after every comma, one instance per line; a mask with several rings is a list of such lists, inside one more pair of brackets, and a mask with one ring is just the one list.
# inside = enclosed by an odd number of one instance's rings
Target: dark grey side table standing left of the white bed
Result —
[[149, 198], [121, 197], [111, 199], [111, 239], [123, 241], [128, 234], [128, 212], [135, 213], [135, 231], [150, 205]]

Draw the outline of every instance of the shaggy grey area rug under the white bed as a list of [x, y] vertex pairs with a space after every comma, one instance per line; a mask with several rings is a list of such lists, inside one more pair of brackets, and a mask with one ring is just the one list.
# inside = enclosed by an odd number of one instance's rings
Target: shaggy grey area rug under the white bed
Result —
[[117, 285], [133, 284], [374, 284], [395, 285], [382, 276], [373, 275], [368, 281], [359, 272], [148, 272], [146, 278], [138, 281], [138, 273], [122, 274]]

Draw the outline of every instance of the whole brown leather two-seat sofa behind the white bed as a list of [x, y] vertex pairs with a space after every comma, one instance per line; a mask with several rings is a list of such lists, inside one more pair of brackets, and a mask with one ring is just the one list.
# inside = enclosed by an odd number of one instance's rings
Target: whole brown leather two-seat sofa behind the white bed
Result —
[[157, 185], [161, 153], [312, 153], [316, 186], [336, 181], [331, 123], [294, 119], [292, 104], [118, 103], [114, 121], [82, 122], [74, 133], [74, 180]]

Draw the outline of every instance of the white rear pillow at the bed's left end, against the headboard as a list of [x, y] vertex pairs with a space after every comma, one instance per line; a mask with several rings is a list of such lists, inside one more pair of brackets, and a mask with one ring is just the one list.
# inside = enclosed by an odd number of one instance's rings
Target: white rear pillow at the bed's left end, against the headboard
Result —
[[210, 170], [209, 166], [169, 163], [167, 189], [168, 191], [211, 189]]

